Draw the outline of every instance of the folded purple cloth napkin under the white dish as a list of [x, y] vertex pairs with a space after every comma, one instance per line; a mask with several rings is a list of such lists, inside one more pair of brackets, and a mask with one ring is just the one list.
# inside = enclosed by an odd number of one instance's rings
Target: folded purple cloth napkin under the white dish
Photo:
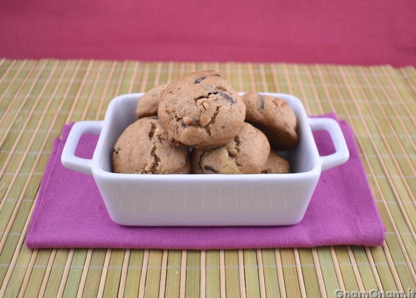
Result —
[[[334, 113], [330, 117], [338, 121]], [[374, 203], [351, 128], [339, 121], [350, 158], [322, 172], [303, 220], [293, 226], [126, 227], [107, 213], [91, 176], [66, 169], [61, 153], [71, 126], [55, 139], [26, 236], [32, 248], [237, 249], [382, 245], [385, 227]], [[327, 132], [315, 131], [321, 155], [334, 151]], [[75, 154], [91, 158], [97, 136], [84, 135]]]

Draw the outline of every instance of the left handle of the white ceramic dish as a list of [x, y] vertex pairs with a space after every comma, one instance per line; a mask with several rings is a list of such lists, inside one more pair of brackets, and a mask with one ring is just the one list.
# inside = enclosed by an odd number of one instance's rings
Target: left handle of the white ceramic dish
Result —
[[75, 156], [75, 149], [82, 135], [99, 135], [103, 124], [104, 121], [80, 121], [73, 125], [61, 155], [61, 163], [65, 168], [92, 176], [92, 159]]

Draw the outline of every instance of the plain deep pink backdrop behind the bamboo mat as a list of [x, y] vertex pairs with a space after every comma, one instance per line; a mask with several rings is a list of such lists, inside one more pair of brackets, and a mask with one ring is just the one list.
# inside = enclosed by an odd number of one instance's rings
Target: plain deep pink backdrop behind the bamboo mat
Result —
[[416, 65], [415, 0], [0, 0], [0, 57]]

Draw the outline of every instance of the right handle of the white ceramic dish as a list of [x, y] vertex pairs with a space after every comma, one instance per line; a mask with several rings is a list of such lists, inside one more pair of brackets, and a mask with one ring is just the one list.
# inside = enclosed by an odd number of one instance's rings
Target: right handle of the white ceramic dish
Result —
[[326, 130], [329, 132], [335, 147], [335, 153], [320, 156], [321, 170], [329, 170], [344, 164], [349, 158], [349, 151], [344, 134], [338, 122], [331, 118], [309, 118], [309, 125], [312, 130]]

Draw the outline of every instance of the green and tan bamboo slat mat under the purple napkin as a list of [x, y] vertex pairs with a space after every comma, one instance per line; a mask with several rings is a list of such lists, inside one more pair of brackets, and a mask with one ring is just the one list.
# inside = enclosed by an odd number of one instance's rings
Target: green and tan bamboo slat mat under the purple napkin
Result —
[[[334, 111], [347, 120], [387, 228], [384, 245], [28, 250], [34, 202], [62, 126], [103, 119], [116, 95], [203, 69], [217, 70], [237, 91], [293, 94], [309, 115]], [[0, 297], [407, 294], [416, 290], [415, 113], [414, 67], [0, 59]]]

